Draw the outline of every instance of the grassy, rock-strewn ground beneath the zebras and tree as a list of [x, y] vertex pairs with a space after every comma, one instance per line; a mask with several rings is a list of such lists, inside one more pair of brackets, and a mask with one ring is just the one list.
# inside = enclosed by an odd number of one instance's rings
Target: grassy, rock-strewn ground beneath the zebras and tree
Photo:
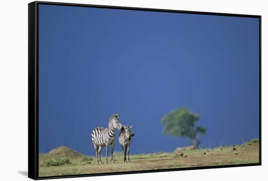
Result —
[[[233, 150], [233, 147], [235, 147], [236, 150]], [[96, 164], [96, 157], [81, 155], [77, 152], [71, 154], [72, 156], [70, 157], [67, 156], [68, 154], [66, 155], [66, 153], [64, 153], [63, 157], [61, 154], [62, 152], [63, 151], [57, 150], [56, 154], [50, 152], [39, 155], [40, 177], [258, 163], [259, 141], [252, 140], [242, 145], [214, 149], [131, 155], [131, 163], [123, 163], [122, 153], [115, 153], [114, 164], [111, 163], [110, 157], [108, 164]], [[72, 152], [72, 150], [70, 152]], [[105, 157], [102, 157], [102, 161], [105, 161]]]

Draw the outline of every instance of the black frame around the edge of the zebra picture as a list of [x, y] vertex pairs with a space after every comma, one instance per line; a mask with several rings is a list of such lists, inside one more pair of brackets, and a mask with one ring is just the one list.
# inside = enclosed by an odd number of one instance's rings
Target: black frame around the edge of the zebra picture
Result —
[[[154, 12], [172, 12], [172, 13], [185, 13], [185, 14], [198, 14], [198, 15], [250, 17], [250, 18], [259, 19], [259, 47], [260, 47], [259, 48], [259, 115], [260, 115], [260, 119], [259, 119], [259, 134], [260, 134], [259, 163], [39, 177], [38, 176], [38, 5], [39, 4], [96, 7], [96, 8], [108, 8], [108, 9], [138, 10], [138, 11], [154, 11]], [[262, 109], [261, 108], [261, 16], [197, 12], [197, 11], [181, 11], [181, 10], [169, 10], [169, 9], [121, 7], [121, 6], [108, 6], [108, 5], [76, 4], [76, 3], [62, 3], [62, 2], [46, 2], [46, 1], [34, 1], [28, 4], [28, 177], [31, 179], [34, 179], [34, 180], [59, 179], [59, 178], [75, 178], [75, 177], [89, 177], [89, 176], [167, 172], [167, 171], [179, 171], [179, 170], [195, 170], [195, 169], [261, 165], [261, 109]]]

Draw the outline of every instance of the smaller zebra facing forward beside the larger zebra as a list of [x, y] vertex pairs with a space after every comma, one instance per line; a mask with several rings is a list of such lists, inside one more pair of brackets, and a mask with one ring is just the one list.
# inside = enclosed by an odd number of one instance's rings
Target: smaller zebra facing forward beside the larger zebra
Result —
[[131, 137], [133, 137], [135, 134], [131, 132], [133, 125], [129, 126], [123, 126], [123, 130], [119, 133], [119, 143], [121, 144], [123, 154], [124, 154], [124, 163], [127, 162], [127, 151], [128, 151], [128, 162], [130, 163], [129, 159], [129, 149], [130, 149], [130, 143], [131, 143]]

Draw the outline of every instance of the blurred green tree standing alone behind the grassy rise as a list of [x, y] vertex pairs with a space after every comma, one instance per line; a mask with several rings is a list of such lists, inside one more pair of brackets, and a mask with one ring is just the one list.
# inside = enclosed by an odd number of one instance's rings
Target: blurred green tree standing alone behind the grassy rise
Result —
[[195, 126], [195, 122], [200, 119], [198, 114], [192, 113], [186, 107], [173, 110], [161, 119], [164, 126], [163, 134], [174, 137], [186, 137], [191, 140], [191, 145], [198, 148], [200, 141], [199, 135], [205, 135], [207, 128]]

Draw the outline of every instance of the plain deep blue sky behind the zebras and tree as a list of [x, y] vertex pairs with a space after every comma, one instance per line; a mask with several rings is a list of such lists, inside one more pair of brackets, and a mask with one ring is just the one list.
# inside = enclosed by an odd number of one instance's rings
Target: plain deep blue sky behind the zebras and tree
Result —
[[39, 5], [39, 152], [94, 155], [113, 113], [132, 153], [173, 151], [190, 141], [160, 120], [181, 106], [208, 128], [202, 148], [259, 138], [258, 61], [256, 18]]

